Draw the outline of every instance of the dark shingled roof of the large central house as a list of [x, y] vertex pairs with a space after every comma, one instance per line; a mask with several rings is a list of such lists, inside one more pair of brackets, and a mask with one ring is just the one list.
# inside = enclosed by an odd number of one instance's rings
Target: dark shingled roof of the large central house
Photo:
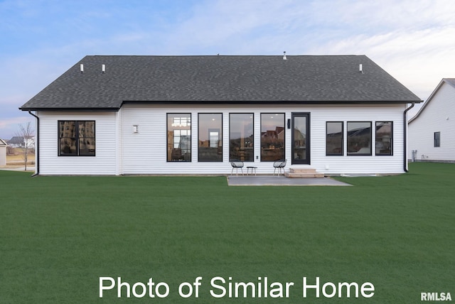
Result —
[[[84, 72], [80, 72], [80, 64]], [[359, 65], [363, 65], [363, 73]], [[105, 65], [105, 73], [102, 73]], [[21, 109], [118, 110], [124, 102], [422, 102], [365, 55], [86, 56]]]

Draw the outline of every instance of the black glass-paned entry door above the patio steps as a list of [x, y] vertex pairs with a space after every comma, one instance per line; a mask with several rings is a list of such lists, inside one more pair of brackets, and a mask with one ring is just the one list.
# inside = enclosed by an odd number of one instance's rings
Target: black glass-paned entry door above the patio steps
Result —
[[309, 113], [292, 113], [292, 163], [310, 163]]

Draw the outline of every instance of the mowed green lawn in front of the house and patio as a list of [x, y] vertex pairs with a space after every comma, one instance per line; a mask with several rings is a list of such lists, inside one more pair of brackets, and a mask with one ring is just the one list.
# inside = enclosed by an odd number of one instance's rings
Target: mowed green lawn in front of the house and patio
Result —
[[[404, 175], [338, 179], [353, 187], [0, 171], [0, 303], [417, 303], [421, 292], [455, 298], [455, 165], [412, 163]], [[153, 278], [170, 291], [127, 298], [124, 288], [117, 298], [115, 288], [100, 298], [101, 276], [131, 285]], [[198, 276], [199, 298], [178, 295], [180, 283]], [[289, 298], [213, 298], [215, 276], [254, 283], [267, 276], [294, 286]], [[309, 291], [303, 298], [303, 277], [311, 284], [320, 277], [321, 285], [371, 282], [375, 294], [316, 298]]]

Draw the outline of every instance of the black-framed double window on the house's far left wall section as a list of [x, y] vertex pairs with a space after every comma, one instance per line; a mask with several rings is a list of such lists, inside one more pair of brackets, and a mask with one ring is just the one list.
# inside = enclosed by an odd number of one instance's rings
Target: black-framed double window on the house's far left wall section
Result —
[[58, 121], [58, 156], [95, 156], [95, 121]]

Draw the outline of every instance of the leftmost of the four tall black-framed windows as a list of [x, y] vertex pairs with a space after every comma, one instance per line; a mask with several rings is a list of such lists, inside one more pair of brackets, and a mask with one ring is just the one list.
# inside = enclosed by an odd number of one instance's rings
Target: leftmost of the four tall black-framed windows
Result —
[[191, 161], [191, 114], [168, 114], [167, 161]]

